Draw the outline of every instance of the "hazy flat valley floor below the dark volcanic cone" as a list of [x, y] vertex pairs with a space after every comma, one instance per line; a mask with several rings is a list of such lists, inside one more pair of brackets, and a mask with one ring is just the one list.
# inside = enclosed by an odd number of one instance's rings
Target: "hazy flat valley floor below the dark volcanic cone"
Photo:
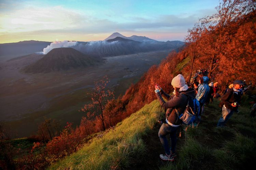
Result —
[[117, 97], [168, 53], [166, 50], [106, 57], [98, 66], [45, 74], [20, 72], [33, 62], [31, 58], [1, 62], [0, 121], [13, 137], [35, 133], [46, 118], [61, 120], [62, 125], [77, 125], [83, 116], [78, 110], [90, 100], [86, 93], [95, 81], [107, 75]]

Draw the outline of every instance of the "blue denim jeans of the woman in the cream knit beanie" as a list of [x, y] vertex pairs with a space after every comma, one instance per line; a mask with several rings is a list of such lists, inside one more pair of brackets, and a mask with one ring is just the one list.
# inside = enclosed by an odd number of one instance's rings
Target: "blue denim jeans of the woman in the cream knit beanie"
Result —
[[162, 143], [163, 148], [165, 149], [165, 153], [167, 155], [170, 155], [170, 147], [169, 147], [166, 135], [170, 134], [171, 151], [175, 152], [175, 147], [176, 147], [176, 143], [177, 143], [176, 132], [177, 132], [178, 128], [179, 128], [179, 126], [174, 127], [174, 126], [171, 126], [167, 123], [163, 123], [161, 125], [161, 128], [159, 129], [158, 136], [159, 136], [159, 139]]

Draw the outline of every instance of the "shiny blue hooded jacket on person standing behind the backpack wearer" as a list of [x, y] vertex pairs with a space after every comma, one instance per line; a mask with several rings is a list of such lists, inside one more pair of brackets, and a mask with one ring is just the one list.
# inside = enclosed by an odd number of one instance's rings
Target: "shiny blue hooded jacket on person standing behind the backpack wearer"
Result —
[[208, 86], [209, 78], [207, 76], [203, 77], [203, 83], [198, 88], [196, 99], [200, 103], [205, 103], [210, 92], [210, 87]]

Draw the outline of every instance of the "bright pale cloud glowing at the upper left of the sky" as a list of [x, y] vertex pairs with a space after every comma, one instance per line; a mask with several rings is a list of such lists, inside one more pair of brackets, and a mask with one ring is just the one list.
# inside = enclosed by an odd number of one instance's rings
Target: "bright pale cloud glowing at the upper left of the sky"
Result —
[[0, 17], [0, 32], [28, 32], [39, 30], [58, 30], [77, 28], [85, 23], [87, 17], [63, 8], [26, 7], [12, 13], [2, 13]]

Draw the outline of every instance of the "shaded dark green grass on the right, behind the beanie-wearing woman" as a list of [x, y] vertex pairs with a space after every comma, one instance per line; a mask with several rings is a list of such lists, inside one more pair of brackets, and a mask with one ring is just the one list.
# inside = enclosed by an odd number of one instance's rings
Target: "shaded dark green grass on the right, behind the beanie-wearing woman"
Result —
[[[249, 116], [248, 105], [234, 113], [225, 128], [217, 128], [221, 116], [217, 100], [205, 107], [203, 121], [197, 128], [189, 127], [177, 143], [175, 163], [160, 169], [246, 169], [256, 158], [256, 119]], [[245, 103], [245, 102], [244, 102]], [[179, 146], [180, 145], [180, 146]]]

